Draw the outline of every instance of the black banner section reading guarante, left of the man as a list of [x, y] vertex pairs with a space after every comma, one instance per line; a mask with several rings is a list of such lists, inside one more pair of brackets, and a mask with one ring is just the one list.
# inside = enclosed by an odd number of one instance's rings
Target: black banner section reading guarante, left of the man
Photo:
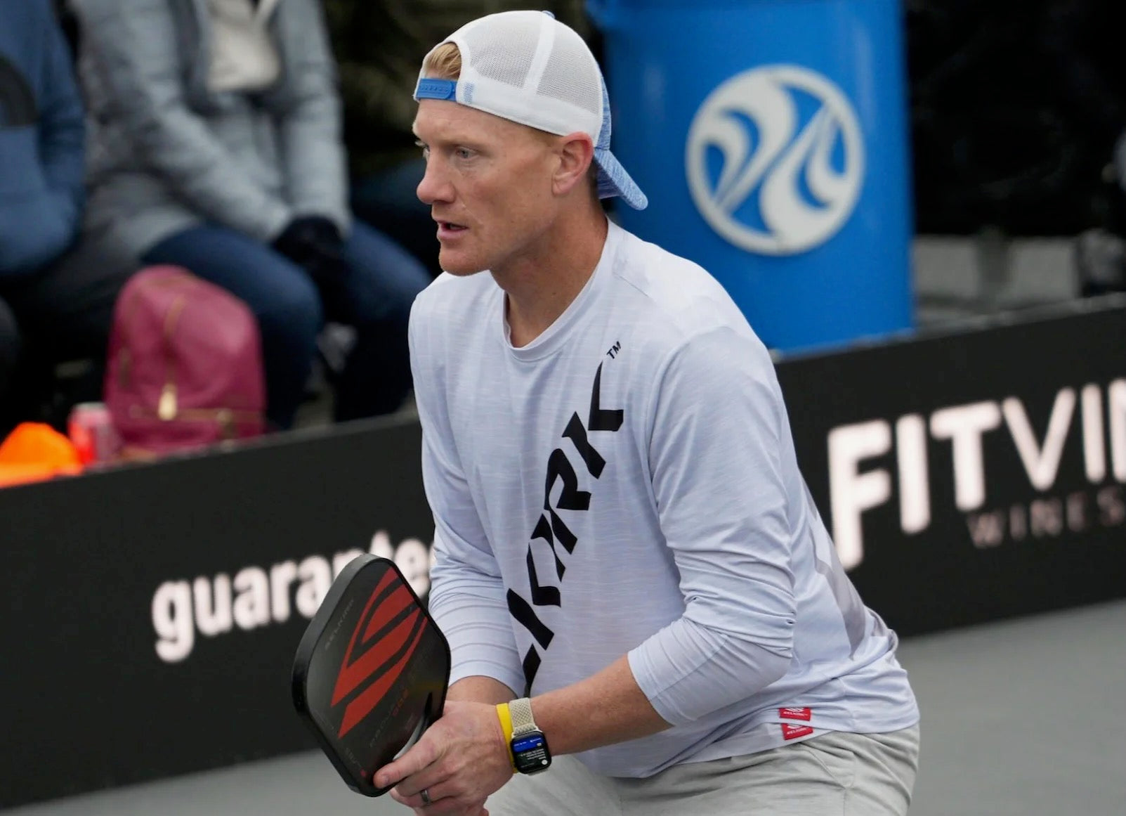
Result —
[[0, 490], [0, 807], [315, 747], [289, 676], [332, 576], [372, 551], [429, 587], [419, 446], [358, 424]]

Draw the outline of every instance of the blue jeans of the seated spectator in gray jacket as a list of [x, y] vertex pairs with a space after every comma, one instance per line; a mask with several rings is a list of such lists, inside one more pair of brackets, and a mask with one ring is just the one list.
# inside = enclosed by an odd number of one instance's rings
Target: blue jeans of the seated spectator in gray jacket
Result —
[[358, 222], [345, 241], [345, 259], [339, 290], [328, 292], [271, 247], [223, 227], [185, 230], [143, 257], [146, 265], [182, 266], [250, 307], [262, 337], [267, 417], [279, 428], [293, 425], [325, 320], [356, 330], [334, 383], [338, 422], [390, 414], [410, 390], [406, 323], [430, 276], [399, 245]]

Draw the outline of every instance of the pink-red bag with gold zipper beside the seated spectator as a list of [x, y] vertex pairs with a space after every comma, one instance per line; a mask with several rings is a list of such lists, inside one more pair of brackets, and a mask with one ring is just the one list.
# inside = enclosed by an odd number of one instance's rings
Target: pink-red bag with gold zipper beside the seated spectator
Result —
[[114, 310], [105, 401], [126, 455], [260, 435], [266, 384], [253, 313], [187, 269], [138, 272]]

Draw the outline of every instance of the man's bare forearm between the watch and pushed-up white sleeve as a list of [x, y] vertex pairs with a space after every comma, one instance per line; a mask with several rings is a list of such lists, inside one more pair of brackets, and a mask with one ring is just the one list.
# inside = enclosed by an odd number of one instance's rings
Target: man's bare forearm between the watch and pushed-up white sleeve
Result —
[[531, 713], [553, 754], [590, 751], [671, 727], [637, 685], [626, 657], [587, 680], [534, 697]]

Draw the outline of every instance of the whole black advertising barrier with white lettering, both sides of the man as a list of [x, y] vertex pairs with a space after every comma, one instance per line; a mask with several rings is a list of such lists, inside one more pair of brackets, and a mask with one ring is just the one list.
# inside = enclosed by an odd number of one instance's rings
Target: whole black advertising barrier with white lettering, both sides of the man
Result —
[[[1126, 596], [1126, 299], [778, 376], [900, 633]], [[420, 438], [356, 423], [0, 490], [0, 808], [314, 747], [289, 674], [333, 576], [366, 551], [429, 588]]]

